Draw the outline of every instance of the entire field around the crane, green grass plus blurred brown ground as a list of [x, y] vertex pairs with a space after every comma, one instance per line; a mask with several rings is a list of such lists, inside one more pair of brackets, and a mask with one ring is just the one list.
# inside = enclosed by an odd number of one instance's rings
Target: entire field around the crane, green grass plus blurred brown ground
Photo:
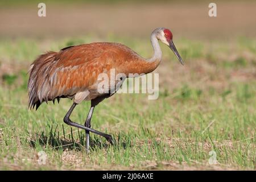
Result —
[[[0, 2], [0, 169], [256, 169], [254, 1], [216, 1], [216, 18], [205, 1], [46, 1], [44, 18], [38, 2]], [[156, 27], [172, 30], [185, 65], [161, 45], [158, 100], [115, 94], [96, 107], [92, 128], [114, 146], [91, 134], [86, 154], [85, 131], [63, 122], [71, 100], [27, 109], [27, 71], [41, 53], [119, 42], [151, 57]], [[71, 119], [84, 124], [89, 106]]]

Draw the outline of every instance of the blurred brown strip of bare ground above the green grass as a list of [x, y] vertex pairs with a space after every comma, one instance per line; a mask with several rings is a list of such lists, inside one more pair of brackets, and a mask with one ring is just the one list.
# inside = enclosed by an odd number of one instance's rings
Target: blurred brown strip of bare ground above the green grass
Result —
[[[40, 18], [38, 3], [47, 16]], [[168, 27], [185, 38], [255, 36], [255, 1], [214, 1], [217, 18], [208, 16], [209, 1], [1, 1], [3, 37], [60, 37], [117, 34], [148, 36], [155, 27]]]

